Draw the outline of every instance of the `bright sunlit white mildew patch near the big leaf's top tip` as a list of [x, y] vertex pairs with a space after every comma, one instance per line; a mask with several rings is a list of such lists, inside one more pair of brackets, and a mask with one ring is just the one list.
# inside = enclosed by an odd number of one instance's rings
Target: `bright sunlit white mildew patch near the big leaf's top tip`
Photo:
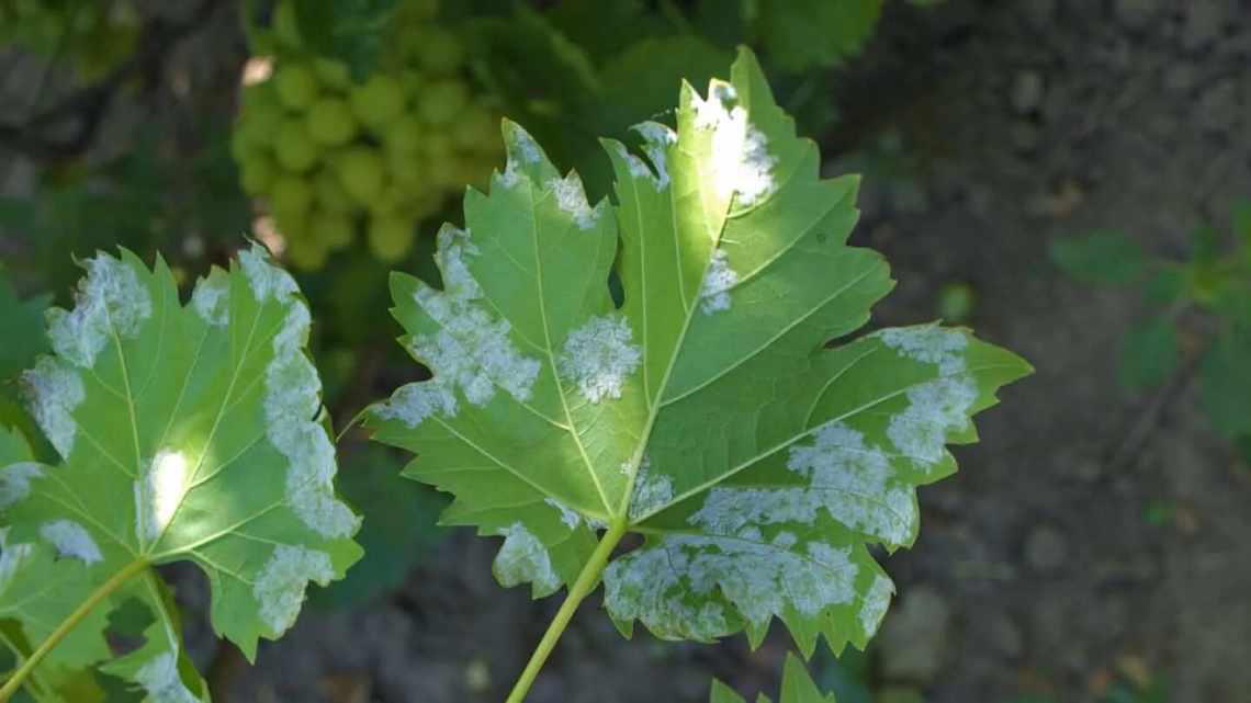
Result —
[[713, 81], [708, 99], [694, 96], [696, 128], [713, 130], [712, 168], [717, 190], [723, 198], [738, 194], [741, 205], [754, 205], [776, 189], [773, 168], [777, 159], [769, 154], [764, 133], [752, 126], [747, 110], [741, 105], [727, 108], [737, 100], [734, 88]]

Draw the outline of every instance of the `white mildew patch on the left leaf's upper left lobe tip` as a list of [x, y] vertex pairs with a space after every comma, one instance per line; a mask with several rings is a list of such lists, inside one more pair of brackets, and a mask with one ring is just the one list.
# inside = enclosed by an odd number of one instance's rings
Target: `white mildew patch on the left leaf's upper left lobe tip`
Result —
[[135, 270], [120, 259], [98, 254], [85, 265], [74, 309], [48, 310], [48, 338], [63, 359], [89, 369], [114, 335], [131, 339], [139, 334], [151, 318], [153, 300]]

